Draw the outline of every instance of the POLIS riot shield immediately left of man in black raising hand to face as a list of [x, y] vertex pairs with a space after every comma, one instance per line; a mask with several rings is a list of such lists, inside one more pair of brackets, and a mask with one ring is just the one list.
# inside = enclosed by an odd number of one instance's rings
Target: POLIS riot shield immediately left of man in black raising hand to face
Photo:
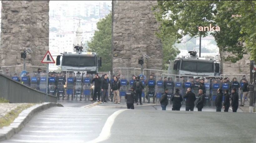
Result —
[[90, 96], [91, 96], [91, 78], [92, 78], [91, 74], [84, 74], [83, 75], [83, 89], [84, 89], [85, 101], [86, 101], [86, 99], [87, 99], [87, 101], [90, 100]]

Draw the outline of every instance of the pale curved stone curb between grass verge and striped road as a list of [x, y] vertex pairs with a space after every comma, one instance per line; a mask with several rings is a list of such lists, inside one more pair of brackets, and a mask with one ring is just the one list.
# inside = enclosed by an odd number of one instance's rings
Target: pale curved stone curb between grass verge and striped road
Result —
[[23, 110], [8, 127], [2, 127], [2, 129], [0, 129], [0, 141], [10, 139], [14, 134], [18, 133], [35, 114], [56, 106], [63, 107], [58, 103], [47, 102], [34, 105], [28, 109]]

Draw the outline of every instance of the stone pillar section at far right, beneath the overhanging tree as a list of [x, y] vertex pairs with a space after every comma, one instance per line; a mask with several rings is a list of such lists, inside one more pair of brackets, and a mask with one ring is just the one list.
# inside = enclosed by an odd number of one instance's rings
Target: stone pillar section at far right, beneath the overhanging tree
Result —
[[221, 71], [223, 74], [250, 74], [250, 55], [244, 55], [242, 60], [236, 63], [223, 61], [223, 57], [230, 55], [230, 53], [220, 53], [221, 56]]

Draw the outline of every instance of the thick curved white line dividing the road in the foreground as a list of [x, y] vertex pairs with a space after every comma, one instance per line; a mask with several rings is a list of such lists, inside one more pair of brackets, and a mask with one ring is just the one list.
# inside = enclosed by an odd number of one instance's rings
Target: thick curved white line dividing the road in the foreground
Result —
[[92, 141], [88, 141], [87, 143], [97, 143], [97, 142], [100, 142], [100, 141], [105, 141], [107, 140], [109, 137], [110, 137], [110, 132], [111, 132], [111, 127], [115, 121], [115, 118], [121, 114], [122, 112], [124, 112], [125, 110], [128, 110], [128, 109], [121, 109], [121, 110], [118, 110], [116, 112], [114, 112], [111, 116], [108, 117], [104, 127], [102, 128], [101, 130], [101, 134], [100, 136], [98, 136], [96, 139], [92, 140]]

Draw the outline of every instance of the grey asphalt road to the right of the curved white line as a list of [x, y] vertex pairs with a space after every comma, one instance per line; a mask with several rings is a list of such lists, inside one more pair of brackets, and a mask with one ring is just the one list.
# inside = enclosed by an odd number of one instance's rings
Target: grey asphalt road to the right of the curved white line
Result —
[[250, 113], [126, 110], [115, 118], [101, 143], [256, 142]]

